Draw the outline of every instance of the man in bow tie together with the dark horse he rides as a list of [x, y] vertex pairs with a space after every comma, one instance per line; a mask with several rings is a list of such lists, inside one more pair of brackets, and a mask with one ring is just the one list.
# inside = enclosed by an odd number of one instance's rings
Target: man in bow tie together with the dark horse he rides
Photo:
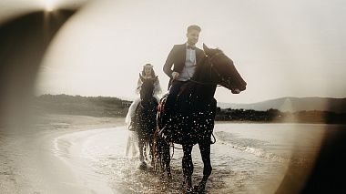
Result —
[[[217, 85], [229, 88], [233, 94], [239, 94], [247, 85], [233, 61], [221, 50], [203, 45], [203, 51], [195, 46], [200, 31], [199, 26], [188, 26], [187, 43], [175, 45], [170, 51], [163, 67], [170, 77], [169, 92], [158, 107], [157, 160], [169, 178], [168, 142], [182, 145], [182, 189], [188, 193], [203, 193], [211, 173], [210, 138], [216, 114]], [[203, 179], [192, 189], [191, 151], [195, 144], [199, 146], [204, 169]]]

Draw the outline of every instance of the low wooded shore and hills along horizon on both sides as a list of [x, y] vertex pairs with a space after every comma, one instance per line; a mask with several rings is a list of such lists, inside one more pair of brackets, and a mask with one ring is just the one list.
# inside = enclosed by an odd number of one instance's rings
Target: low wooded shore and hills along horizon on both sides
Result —
[[[33, 106], [38, 114], [125, 117], [130, 104], [131, 101], [117, 97], [63, 94], [36, 97]], [[253, 104], [220, 104], [216, 120], [346, 124], [346, 98], [283, 97]]]

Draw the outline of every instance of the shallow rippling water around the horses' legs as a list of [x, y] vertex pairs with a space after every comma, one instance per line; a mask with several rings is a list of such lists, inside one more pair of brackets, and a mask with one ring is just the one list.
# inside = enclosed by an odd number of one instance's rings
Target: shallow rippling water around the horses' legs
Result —
[[[310, 124], [218, 124], [211, 146], [212, 174], [207, 193], [273, 193], [289, 164], [309, 167], [321, 138], [338, 126]], [[128, 131], [124, 127], [67, 134], [56, 139], [56, 154], [75, 168], [86, 187], [102, 193], [181, 193], [182, 150], [175, 149], [171, 182], [150, 168], [140, 170], [139, 160], [125, 156]], [[181, 147], [177, 145], [177, 147]], [[193, 148], [193, 183], [202, 177], [198, 146]], [[148, 162], [149, 163], [149, 162]], [[78, 172], [79, 171], [79, 172]], [[83, 173], [82, 173], [83, 174]]]

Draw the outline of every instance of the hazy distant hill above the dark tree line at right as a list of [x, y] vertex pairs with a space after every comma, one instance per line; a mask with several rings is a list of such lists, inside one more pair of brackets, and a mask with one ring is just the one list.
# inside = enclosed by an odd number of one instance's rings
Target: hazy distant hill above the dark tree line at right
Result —
[[218, 107], [232, 109], [268, 110], [270, 108], [286, 112], [321, 110], [346, 113], [346, 98], [331, 97], [281, 97], [252, 104], [218, 103]]

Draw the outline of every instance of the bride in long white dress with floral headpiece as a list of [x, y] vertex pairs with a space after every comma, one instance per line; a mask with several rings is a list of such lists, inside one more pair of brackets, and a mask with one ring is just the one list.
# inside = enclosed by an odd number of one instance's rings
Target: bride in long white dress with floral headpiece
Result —
[[[142, 76], [145, 78], [156, 77], [153, 67], [154, 66], [152, 66], [151, 64], [146, 64], [145, 66], [143, 66]], [[140, 88], [141, 88], [142, 84], [143, 83], [139, 77], [138, 81], [137, 81], [137, 87], [136, 87], [137, 98], [132, 102], [131, 106], [128, 108], [127, 117], [125, 118], [127, 128], [130, 130], [130, 133], [129, 133], [128, 139], [127, 139], [127, 151], [126, 151], [127, 156], [128, 156], [128, 153], [129, 153], [131, 148], [132, 148], [132, 156], [137, 155], [137, 149], [138, 149], [137, 148], [138, 147], [137, 134], [134, 131], [133, 124], [131, 121], [133, 120], [133, 117], [135, 117], [135, 111], [136, 111], [138, 103], [140, 102], [139, 92], [140, 92]], [[155, 86], [154, 87], [154, 97], [157, 98], [157, 100], [159, 101], [158, 95], [161, 94], [162, 90], [161, 90], [158, 79], [154, 83], [154, 86]]]

